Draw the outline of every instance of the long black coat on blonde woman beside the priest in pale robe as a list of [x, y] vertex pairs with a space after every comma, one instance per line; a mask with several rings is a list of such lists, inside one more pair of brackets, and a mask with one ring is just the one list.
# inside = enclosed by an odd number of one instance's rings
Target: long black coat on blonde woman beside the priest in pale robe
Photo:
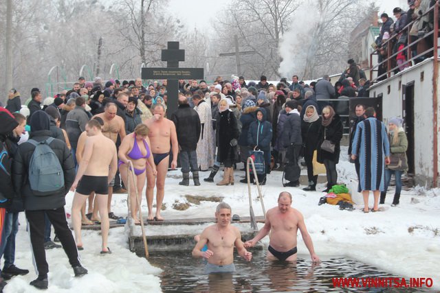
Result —
[[217, 161], [224, 163], [227, 160], [238, 161], [236, 157], [236, 147], [232, 148], [230, 142], [232, 139], [239, 139], [239, 128], [237, 121], [231, 110], [225, 110], [220, 113], [220, 119], [217, 120]]

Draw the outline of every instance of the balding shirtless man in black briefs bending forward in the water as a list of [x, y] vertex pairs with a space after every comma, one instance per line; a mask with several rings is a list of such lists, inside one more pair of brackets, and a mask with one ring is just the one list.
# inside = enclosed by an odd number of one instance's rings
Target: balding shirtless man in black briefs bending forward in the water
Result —
[[269, 252], [267, 259], [281, 261], [296, 261], [296, 233], [298, 228], [303, 236], [305, 245], [309, 250], [311, 260], [319, 263], [320, 259], [315, 254], [314, 244], [307, 232], [303, 215], [291, 207], [292, 194], [287, 191], [278, 196], [278, 207], [267, 211], [266, 222], [254, 239], [245, 242], [245, 247], [252, 247], [270, 233]]

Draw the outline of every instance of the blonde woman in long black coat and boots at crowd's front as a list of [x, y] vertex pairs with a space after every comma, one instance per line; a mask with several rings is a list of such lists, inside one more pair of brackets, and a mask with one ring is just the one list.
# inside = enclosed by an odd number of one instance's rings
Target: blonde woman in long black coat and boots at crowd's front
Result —
[[217, 119], [217, 161], [223, 163], [223, 180], [217, 185], [234, 185], [233, 163], [239, 162], [237, 144], [239, 139], [239, 126], [232, 110], [229, 109], [228, 99], [219, 102], [220, 117]]

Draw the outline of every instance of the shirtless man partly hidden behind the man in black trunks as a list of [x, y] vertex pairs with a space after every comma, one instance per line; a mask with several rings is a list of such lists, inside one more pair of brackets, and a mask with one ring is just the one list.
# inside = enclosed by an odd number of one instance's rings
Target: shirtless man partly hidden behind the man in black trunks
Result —
[[[113, 141], [116, 145], [116, 141], [118, 140], [118, 134], [122, 139], [125, 137], [125, 122], [124, 119], [116, 115], [118, 112], [118, 106], [114, 103], [107, 103], [104, 106], [104, 113], [100, 113], [95, 115], [94, 117], [100, 117], [102, 121], [104, 121], [104, 126], [102, 126], [102, 134], [104, 137], [108, 137]], [[92, 119], [94, 118], [92, 117]], [[112, 178], [111, 183], [109, 185], [109, 200], [107, 202], [107, 210], [109, 211], [109, 218], [113, 220], [118, 220], [120, 217], [113, 214], [111, 211], [111, 197], [113, 196], [113, 185], [114, 179]], [[101, 215], [102, 216], [102, 215]]]

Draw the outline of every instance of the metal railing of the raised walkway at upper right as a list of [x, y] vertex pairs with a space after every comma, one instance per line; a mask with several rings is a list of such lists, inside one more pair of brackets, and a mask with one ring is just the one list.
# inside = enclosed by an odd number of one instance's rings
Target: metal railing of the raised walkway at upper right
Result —
[[[433, 23], [432, 23], [433, 29], [430, 30], [430, 32], [427, 32], [426, 34], [423, 34], [423, 37], [417, 38], [417, 40], [410, 43], [410, 30], [412, 28], [412, 25], [417, 20], [421, 21], [422, 16], [426, 16], [431, 13], [434, 14], [434, 19], [433, 19]], [[377, 49], [375, 49], [375, 51], [373, 51], [373, 53], [370, 54], [370, 80], [371, 80], [371, 82], [377, 82], [377, 81], [382, 80], [384, 78], [391, 78], [391, 73], [393, 73], [394, 71], [399, 69], [399, 67], [410, 66], [412, 62], [415, 62], [415, 60], [417, 60], [417, 58], [421, 58], [422, 56], [426, 56], [426, 54], [429, 54], [430, 52], [432, 52], [433, 56], [437, 56], [437, 51], [438, 51], [437, 38], [439, 36], [438, 16], [439, 16], [439, 2], [437, 1], [434, 4], [434, 6], [432, 6], [429, 10], [427, 10], [421, 16], [419, 16], [418, 19], [415, 19], [414, 21], [411, 21], [410, 23], [408, 23], [408, 25], [406, 25], [400, 32], [397, 32], [397, 34], [393, 34], [390, 38], [388, 38], [388, 40], [384, 41], [379, 47], [377, 47]], [[411, 17], [411, 16], [408, 15], [407, 17]], [[393, 47], [394, 47], [395, 43], [397, 43], [401, 34], [405, 34], [405, 33], [406, 33], [406, 38], [407, 38], [406, 46], [404, 46], [400, 50], [398, 49], [396, 51], [396, 53], [393, 54]], [[432, 38], [433, 46], [430, 49], [427, 49], [421, 53], [417, 52], [416, 56], [412, 56], [411, 47], [419, 44], [422, 40], [426, 40], [426, 38]], [[377, 65], [373, 65], [373, 56], [374, 55], [379, 56], [380, 50], [383, 48], [386, 49], [386, 53], [387, 53], [386, 58], [383, 58], [381, 62], [377, 63]], [[393, 66], [392, 65], [393, 60], [397, 57], [398, 54], [401, 54], [404, 51], [406, 51], [406, 61], [391, 68]], [[380, 60], [380, 58], [378, 60]], [[377, 77], [373, 80], [373, 72], [378, 72], [379, 68], [384, 64], [386, 64], [386, 72], [384, 72], [380, 75], [378, 74]]]

